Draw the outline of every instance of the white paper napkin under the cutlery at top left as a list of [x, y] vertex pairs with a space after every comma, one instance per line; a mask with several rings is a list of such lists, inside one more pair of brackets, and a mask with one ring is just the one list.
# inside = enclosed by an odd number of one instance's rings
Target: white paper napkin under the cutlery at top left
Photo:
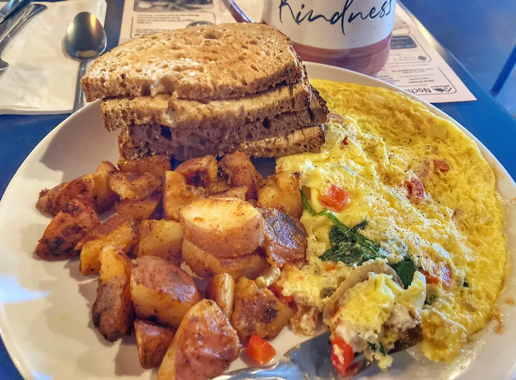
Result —
[[2, 54], [9, 67], [0, 74], [0, 114], [65, 113], [73, 108], [79, 63], [64, 53], [63, 37], [79, 12], [93, 13], [104, 25], [106, 1], [42, 4], [48, 9], [30, 21]]

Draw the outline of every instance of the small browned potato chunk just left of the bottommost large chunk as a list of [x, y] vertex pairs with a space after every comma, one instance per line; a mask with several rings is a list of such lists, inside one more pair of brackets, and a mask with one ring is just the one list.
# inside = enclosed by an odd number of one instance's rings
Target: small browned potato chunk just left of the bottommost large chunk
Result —
[[143, 368], [159, 367], [174, 339], [175, 330], [149, 321], [134, 321], [138, 357]]

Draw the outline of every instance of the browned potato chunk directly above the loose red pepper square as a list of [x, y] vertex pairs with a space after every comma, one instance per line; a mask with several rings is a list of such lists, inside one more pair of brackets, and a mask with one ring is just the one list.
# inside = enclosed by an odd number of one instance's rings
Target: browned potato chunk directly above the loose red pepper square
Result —
[[276, 338], [293, 315], [287, 303], [270, 290], [260, 289], [246, 277], [238, 279], [231, 324], [241, 342], [247, 342], [253, 335], [263, 339]]

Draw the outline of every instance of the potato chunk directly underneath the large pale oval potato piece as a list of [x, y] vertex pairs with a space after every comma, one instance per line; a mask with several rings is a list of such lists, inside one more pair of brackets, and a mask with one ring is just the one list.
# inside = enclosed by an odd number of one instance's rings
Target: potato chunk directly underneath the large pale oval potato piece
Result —
[[181, 251], [186, 264], [199, 277], [228, 273], [235, 279], [240, 276], [254, 279], [269, 267], [265, 257], [258, 252], [238, 257], [217, 257], [186, 239]]

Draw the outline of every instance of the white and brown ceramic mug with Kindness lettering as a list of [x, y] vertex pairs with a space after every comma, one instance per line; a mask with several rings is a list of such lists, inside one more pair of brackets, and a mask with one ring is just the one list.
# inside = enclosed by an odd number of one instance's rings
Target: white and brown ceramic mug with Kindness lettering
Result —
[[[238, 22], [254, 22], [222, 0]], [[374, 75], [389, 58], [396, 0], [264, 0], [261, 22], [291, 38], [305, 61]]]

